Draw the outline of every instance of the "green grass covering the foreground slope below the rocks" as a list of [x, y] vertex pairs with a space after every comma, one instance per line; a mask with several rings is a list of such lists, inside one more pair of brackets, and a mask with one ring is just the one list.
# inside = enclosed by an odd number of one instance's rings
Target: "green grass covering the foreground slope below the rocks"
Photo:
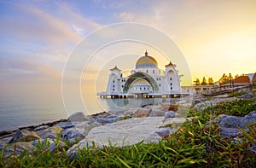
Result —
[[221, 113], [244, 116], [255, 109], [254, 99], [227, 101], [201, 112], [190, 110], [189, 116], [197, 117], [159, 143], [82, 148], [72, 158], [66, 154], [72, 144], [52, 153], [45, 148], [49, 142], [39, 143], [31, 154], [25, 151], [4, 157], [2, 151], [0, 167], [255, 167], [256, 157], [249, 146], [256, 143], [255, 123], [235, 141], [221, 137], [218, 125], [211, 122]]

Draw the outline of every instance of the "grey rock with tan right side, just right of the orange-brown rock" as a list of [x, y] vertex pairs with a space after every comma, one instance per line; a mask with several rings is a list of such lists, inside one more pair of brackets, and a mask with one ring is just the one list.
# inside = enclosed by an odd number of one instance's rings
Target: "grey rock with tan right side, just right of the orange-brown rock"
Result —
[[43, 139], [46, 138], [56, 138], [57, 136], [61, 136], [61, 131], [63, 129], [60, 126], [53, 126], [53, 127], [49, 127], [48, 129], [44, 129], [44, 130], [38, 130], [38, 136], [40, 136]]

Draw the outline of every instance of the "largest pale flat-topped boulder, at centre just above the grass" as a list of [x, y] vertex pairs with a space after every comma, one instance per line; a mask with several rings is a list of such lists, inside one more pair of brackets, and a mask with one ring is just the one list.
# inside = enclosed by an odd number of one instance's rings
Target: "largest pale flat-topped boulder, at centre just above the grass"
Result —
[[67, 152], [76, 153], [78, 148], [90, 147], [92, 142], [99, 146], [112, 144], [119, 147], [142, 142], [159, 129], [164, 119], [164, 117], [132, 118], [101, 125], [90, 130], [82, 141], [73, 145]]

